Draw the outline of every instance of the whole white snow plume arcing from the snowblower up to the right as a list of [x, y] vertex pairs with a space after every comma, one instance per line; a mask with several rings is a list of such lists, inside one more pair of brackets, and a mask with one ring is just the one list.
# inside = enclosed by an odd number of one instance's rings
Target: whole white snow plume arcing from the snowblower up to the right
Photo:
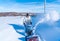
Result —
[[43, 18], [39, 19], [39, 21], [34, 26], [33, 32], [35, 32], [38, 24], [44, 23], [44, 22], [54, 23], [54, 22], [58, 21], [59, 19], [60, 19], [60, 14], [55, 10], [51, 10], [51, 11], [47, 12], [47, 14], [45, 14], [45, 16]]

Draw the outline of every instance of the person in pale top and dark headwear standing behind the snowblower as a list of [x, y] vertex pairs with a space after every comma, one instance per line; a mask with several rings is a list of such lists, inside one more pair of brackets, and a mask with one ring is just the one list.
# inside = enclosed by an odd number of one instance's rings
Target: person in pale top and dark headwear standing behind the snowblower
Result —
[[30, 36], [32, 34], [32, 21], [28, 13], [24, 17], [23, 24], [25, 26], [26, 36]]

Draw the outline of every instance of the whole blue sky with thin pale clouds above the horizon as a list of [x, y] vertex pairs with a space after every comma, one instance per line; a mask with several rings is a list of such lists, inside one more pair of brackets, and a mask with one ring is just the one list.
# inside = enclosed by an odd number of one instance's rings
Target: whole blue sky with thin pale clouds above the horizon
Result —
[[[46, 0], [47, 9], [58, 10], [60, 0]], [[52, 6], [53, 7], [52, 7]], [[0, 0], [0, 12], [44, 12], [44, 0]]]

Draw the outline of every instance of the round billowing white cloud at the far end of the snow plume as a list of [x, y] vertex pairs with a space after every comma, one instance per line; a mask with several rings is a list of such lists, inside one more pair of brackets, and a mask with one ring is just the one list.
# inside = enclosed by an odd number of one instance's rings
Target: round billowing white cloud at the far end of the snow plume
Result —
[[46, 18], [47, 18], [47, 20], [55, 22], [60, 19], [60, 14], [55, 10], [51, 10], [48, 12]]

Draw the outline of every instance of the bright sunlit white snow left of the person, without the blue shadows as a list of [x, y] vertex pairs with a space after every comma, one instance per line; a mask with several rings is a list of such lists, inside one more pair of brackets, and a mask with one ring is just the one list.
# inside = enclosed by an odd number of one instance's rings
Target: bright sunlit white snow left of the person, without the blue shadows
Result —
[[[13, 26], [9, 24], [18, 24], [23, 26], [23, 17], [21, 16], [7, 16], [0, 17], [0, 41], [22, 41], [18, 38], [25, 37], [22, 34], [18, 34]], [[24, 30], [17, 30], [23, 32]], [[41, 41], [41, 40], [40, 40]]]

